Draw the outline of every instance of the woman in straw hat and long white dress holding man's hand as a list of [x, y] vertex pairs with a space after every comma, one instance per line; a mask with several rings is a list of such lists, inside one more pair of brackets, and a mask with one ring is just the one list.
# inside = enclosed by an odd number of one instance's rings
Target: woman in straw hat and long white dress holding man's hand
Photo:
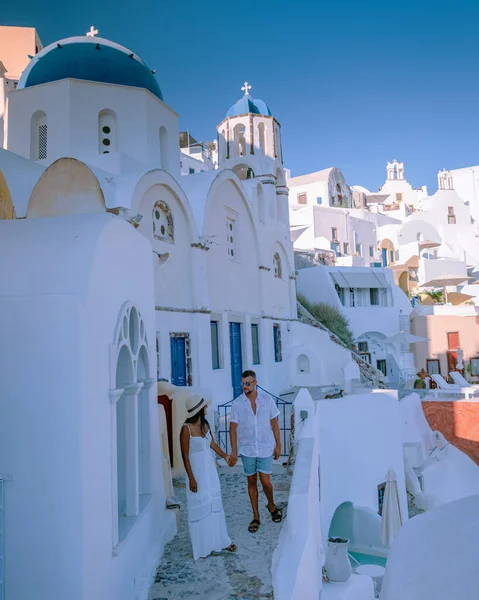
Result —
[[229, 456], [221, 450], [211, 435], [206, 420], [208, 404], [209, 402], [198, 395], [188, 398], [188, 418], [180, 433], [181, 455], [188, 478], [188, 529], [194, 560], [205, 558], [212, 552], [236, 550], [226, 529], [220, 479], [211, 450], [227, 463]]

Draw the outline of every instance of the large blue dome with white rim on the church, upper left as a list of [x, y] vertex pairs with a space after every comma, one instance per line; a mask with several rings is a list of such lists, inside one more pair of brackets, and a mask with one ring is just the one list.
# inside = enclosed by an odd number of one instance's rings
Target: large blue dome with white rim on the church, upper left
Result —
[[32, 58], [18, 83], [32, 87], [62, 79], [82, 79], [149, 90], [163, 100], [152, 71], [127, 48], [96, 37], [72, 37], [50, 44]]

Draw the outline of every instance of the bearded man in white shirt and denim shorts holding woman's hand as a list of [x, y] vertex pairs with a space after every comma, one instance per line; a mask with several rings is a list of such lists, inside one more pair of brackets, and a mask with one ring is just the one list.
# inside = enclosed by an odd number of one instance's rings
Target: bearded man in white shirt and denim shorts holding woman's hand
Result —
[[256, 533], [260, 526], [258, 507], [258, 475], [268, 500], [268, 510], [275, 523], [282, 520], [281, 512], [273, 499], [273, 458], [281, 456], [281, 436], [278, 424], [279, 410], [273, 398], [256, 389], [256, 373], [245, 371], [241, 376], [243, 394], [236, 398], [231, 407], [229, 465], [243, 462], [248, 478], [248, 494], [253, 509], [253, 520], [248, 531]]

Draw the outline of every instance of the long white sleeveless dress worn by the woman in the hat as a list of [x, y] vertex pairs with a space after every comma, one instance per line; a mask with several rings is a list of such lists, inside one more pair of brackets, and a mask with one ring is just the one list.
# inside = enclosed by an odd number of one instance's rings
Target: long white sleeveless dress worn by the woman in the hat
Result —
[[205, 437], [192, 436], [190, 431], [188, 456], [198, 484], [198, 491], [192, 492], [188, 475], [186, 476], [188, 529], [194, 560], [205, 558], [212, 552], [221, 552], [231, 545], [221, 500], [220, 478], [210, 444], [209, 431]]

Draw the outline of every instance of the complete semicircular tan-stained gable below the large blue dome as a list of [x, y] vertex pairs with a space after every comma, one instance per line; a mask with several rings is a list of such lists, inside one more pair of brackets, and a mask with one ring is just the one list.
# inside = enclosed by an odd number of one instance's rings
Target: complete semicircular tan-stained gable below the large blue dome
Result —
[[105, 211], [103, 191], [91, 169], [75, 158], [60, 158], [48, 167], [34, 187], [27, 218]]

